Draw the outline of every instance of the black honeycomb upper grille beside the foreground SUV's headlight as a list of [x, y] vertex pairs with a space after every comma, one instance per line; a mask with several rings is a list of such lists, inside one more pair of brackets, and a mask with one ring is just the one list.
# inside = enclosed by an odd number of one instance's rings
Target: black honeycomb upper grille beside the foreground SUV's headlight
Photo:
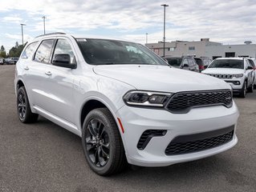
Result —
[[193, 107], [232, 106], [231, 90], [180, 92], [170, 98], [166, 109], [174, 114], [185, 114]]

